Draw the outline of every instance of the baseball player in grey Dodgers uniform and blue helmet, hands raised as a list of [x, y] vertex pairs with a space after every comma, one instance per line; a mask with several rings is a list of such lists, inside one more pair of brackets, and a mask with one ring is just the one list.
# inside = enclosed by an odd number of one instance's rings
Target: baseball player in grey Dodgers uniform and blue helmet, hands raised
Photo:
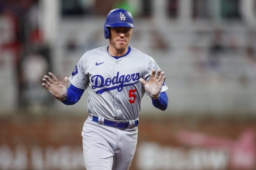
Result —
[[75, 104], [88, 89], [89, 116], [82, 131], [87, 170], [128, 170], [143, 95], [152, 98], [154, 107], [168, 106], [164, 72], [152, 57], [128, 45], [132, 28], [129, 11], [111, 10], [104, 24], [109, 45], [87, 51], [63, 82], [50, 72], [42, 79], [42, 86], [66, 105]]

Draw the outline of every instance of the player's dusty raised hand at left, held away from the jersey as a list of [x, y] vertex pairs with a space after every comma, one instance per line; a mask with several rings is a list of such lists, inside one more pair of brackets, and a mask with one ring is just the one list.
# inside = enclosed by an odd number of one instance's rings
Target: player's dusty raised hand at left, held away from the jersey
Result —
[[65, 77], [62, 83], [55, 77], [53, 73], [49, 72], [49, 76], [44, 76], [42, 79], [44, 81], [42, 86], [47, 89], [55, 98], [60, 101], [64, 101], [67, 95], [68, 78]]

